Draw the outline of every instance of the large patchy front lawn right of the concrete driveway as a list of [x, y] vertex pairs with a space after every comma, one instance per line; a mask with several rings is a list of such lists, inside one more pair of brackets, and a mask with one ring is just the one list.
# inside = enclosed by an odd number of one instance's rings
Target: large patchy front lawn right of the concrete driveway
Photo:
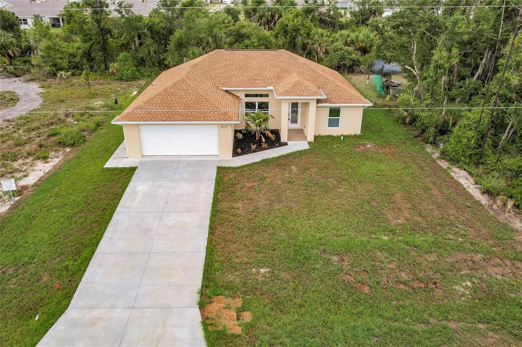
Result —
[[252, 321], [210, 346], [522, 340], [520, 239], [386, 110], [364, 114], [362, 135], [218, 169], [201, 304], [239, 295]]

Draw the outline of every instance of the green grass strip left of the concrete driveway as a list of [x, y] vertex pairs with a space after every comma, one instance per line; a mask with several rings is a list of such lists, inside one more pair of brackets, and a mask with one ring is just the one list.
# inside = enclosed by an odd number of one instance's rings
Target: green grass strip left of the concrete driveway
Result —
[[123, 141], [114, 116], [2, 218], [3, 345], [35, 345], [65, 311], [131, 180], [134, 168], [103, 168]]

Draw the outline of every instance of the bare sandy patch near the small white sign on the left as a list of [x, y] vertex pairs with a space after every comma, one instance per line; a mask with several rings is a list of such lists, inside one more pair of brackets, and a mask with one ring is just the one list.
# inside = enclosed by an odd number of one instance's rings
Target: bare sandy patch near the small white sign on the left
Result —
[[[40, 177], [45, 175], [45, 173], [49, 172], [62, 158], [69, 152], [69, 148], [65, 150], [55, 152], [49, 156], [48, 159], [40, 159], [40, 160], [20, 160], [15, 163], [15, 167], [18, 169], [18, 172], [15, 172], [8, 177], [2, 178], [10, 178], [15, 177], [16, 187], [18, 188], [18, 196], [15, 197], [15, 201], [20, 199], [20, 196], [25, 194], [34, 182], [38, 181]], [[16, 177], [21, 177], [20, 179], [16, 179]], [[5, 212], [9, 207], [13, 205], [11, 201], [11, 197], [9, 194], [3, 194], [0, 196], [0, 213]]]

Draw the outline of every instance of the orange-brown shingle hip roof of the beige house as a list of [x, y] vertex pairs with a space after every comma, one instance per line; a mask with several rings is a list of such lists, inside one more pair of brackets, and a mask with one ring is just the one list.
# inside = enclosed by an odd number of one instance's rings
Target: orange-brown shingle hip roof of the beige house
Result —
[[161, 73], [114, 122], [238, 121], [226, 89], [274, 88], [276, 97], [367, 104], [337, 71], [284, 49], [218, 49]]

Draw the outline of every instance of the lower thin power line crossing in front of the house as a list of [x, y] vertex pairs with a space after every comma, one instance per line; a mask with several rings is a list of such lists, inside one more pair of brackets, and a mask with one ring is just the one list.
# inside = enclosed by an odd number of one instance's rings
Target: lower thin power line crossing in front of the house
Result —
[[[321, 106], [319, 106], [321, 107]], [[325, 106], [327, 107], [327, 106]], [[333, 106], [335, 107], [335, 106]], [[382, 109], [480, 109], [481, 107], [371, 107], [365, 108], [365, 110], [382, 110]], [[522, 106], [496, 106], [496, 107], [484, 107], [484, 109], [520, 109]], [[308, 109], [308, 108], [302, 108]], [[270, 110], [282, 110], [282, 108], [270, 108]], [[127, 112], [133, 113], [146, 113], [146, 112], [174, 112], [174, 111], [192, 111], [209, 113], [216, 111], [238, 111], [237, 108], [216, 108], [216, 109], [187, 109], [187, 108], [171, 108], [171, 109], [148, 109], [148, 110], [128, 110]], [[124, 113], [125, 110], [65, 110], [65, 111], [27, 111], [26, 114], [49, 114], [49, 113]], [[0, 111], [0, 113], [19, 113], [18, 111]]]

